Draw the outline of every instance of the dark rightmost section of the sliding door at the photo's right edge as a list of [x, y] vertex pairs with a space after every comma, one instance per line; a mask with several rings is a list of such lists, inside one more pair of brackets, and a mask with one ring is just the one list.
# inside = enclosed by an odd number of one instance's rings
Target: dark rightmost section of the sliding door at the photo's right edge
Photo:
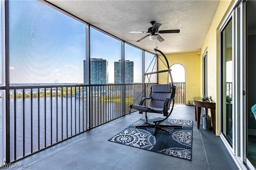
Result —
[[256, 117], [251, 109], [256, 104], [256, 1], [246, 2], [247, 14], [247, 57], [246, 63], [246, 85], [247, 102], [247, 147], [246, 147], [246, 163], [250, 168], [256, 168]]

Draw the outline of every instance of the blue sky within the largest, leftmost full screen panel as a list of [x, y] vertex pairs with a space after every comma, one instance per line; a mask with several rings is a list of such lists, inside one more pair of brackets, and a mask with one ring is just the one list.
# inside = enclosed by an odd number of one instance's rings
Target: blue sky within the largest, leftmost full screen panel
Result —
[[84, 24], [38, 1], [10, 1], [10, 83], [83, 83]]

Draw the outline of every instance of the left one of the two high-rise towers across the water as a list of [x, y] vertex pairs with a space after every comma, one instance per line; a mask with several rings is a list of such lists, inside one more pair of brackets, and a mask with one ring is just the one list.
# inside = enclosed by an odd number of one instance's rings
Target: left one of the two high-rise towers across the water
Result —
[[[84, 84], [86, 84], [86, 60], [84, 60]], [[108, 61], [102, 58], [90, 58], [90, 84], [108, 84]]]

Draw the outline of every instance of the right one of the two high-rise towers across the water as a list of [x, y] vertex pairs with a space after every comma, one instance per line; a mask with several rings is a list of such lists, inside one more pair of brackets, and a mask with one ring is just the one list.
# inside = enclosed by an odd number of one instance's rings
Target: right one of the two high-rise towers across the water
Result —
[[[120, 84], [121, 78], [122, 78], [122, 72], [121, 72], [121, 60], [114, 62], [114, 83]], [[130, 60], [124, 61], [124, 83], [130, 84], [133, 83], [133, 67], [134, 62]]]

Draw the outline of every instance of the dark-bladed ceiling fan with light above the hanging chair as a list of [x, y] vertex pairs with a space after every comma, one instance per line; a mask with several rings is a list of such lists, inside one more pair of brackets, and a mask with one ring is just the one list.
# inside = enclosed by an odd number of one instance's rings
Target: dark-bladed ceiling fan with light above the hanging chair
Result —
[[[141, 40], [143, 40], [144, 38], [149, 37], [149, 40], [158, 40], [159, 42], [163, 42], [164, 38], [162, 38], [159, 34], [165, 34], [165, 33], [179, 33], [180, 30], [160, 30], [158, 31], [158, 28], [162, 25], [160, 23], [156, 23], [155, 21], [151, 21], [150, 22], [152, 24], [152, 27], [148, 28], [147, 32], [130, 32], [130, 33], [150, 33], [144, 37], [142, 37], [140, 40], [136, 41], [136, 42], [140, 42]], [[159, 33], [159, 34], [156, 34]]]

